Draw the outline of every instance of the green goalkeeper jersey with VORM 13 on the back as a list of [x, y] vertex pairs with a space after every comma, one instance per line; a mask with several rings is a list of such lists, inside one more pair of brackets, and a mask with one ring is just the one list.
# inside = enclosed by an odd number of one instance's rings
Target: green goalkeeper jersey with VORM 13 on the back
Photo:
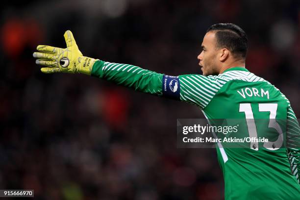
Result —
[[[238, 132], [239, 136], [248, 134], [270, 141], [251, 141], [245, 148], [216, 144], [225, 199], [300, 200], [300, 127], [289, 100], [268, 81], [242, 67], [220, 75], [169, 76], [104, 61], [94, 64], [92, 75], [144, 93], [195, 104], [212, 123], [214, 119], [244, 119], [247, 131]], [[270, 124], [256, 128], [256, 119], [269, 119]]]

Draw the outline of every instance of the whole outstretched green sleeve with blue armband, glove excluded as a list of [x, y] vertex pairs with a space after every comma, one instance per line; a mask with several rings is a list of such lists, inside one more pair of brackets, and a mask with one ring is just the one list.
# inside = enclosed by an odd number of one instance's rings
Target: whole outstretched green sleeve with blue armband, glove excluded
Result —
[[101, 60], [95, 62], [91, 75], [136, 91], [193, 103], [200, 108], [204, 108], [225, 83], [217, 76], [170, 76], [130, 64]]

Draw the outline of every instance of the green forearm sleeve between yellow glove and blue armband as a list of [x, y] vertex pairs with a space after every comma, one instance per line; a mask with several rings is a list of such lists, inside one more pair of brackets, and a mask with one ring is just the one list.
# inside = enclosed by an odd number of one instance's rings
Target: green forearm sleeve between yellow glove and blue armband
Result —
[[91, 75], [133, 88], [136, 91], [157, 96], [162, 95], [163, 74], [134, 65], [99, 60], [93, 65]]

